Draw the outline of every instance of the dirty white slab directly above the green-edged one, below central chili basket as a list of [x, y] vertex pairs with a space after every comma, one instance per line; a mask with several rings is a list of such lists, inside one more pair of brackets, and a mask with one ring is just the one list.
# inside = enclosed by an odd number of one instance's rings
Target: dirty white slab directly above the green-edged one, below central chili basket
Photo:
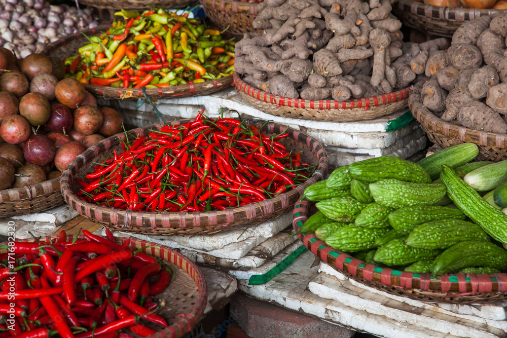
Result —
[[296, 236], [288, 236], [292, 232], [292, 226], [289, 226], [273, 237], [268, 238], [265, 242], [253, 247], [248, 253], [239, 259], [218, 258], [205, 253], [186, 249], [181, 252], [198, 265], [210, 265], [228, 269], [257, 268], [269, 259], [273, 258], [273, 256], [283, 250], [287, 245], [298, 239]]

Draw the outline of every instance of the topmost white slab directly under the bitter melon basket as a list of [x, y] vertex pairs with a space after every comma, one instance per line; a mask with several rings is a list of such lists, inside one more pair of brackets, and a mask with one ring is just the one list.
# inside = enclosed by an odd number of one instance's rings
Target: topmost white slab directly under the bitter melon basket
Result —
[[[450, 304], [450, 303], [428, 303], [419, 302], [415, 299], [400, 297], [394, 294], [383, 292], [375, 288], [369, 287], [365, 284], [359, 283], [353, 279], [349, 279], [347, 276], [333, 269], [324, 262], [320, 263], [321, 272], [334, 276], [340, 280], [348, 280], [355, 287], [368, 290], [369, 292], [382, 295], [387, 298], [394, 299], [398, 302], [403, 302], [411, 306], [415, 306], [422, 309], [429, 309], [432, 311], [442, 312], [447, 315], [452, 315], [468, 320], [474, 320], [480, 323], [486, 323], [494, 327], [500, 327], [507, 329], [507, 301], [499, 301], [488, 304]], [[496, 323], [500, 321], [499, 323]], [[496, 326], [498, 325], [498, 326]]]

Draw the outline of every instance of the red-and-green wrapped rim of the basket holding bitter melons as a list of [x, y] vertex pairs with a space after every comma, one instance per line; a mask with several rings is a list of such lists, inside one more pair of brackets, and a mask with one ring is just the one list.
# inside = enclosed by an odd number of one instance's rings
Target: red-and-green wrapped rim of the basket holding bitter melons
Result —
[[[306, 199], [296, 203], [293, 210], [293, 228], [296, 231], [299, 231], [303, 223], [308, 219], [308, 208], [311, 203]], [[314, 255], [335, 270], [349, 273], [354, 277], [363, 278], [370, 282], [398, 287], [404, 290], [421, 289], [423, 291], [437, 291], [446, 294], [450, 291], [459, 292], [449, 295], [449, 297], [507, 292], [507, 273], [491, 275], [466, 274], [466, 276], [465, 274], [458, 273], [433, 277], [430, 273], [416, 274], [366, 264], [363, 260], [354, 258], [343, 251], [333, 249], [324, 241], [319, 240], [315, 234], [299, 234], [298, 237]], [[334, 260], [334, 264], [328, 262], [328, 259]], [[469, 292], [467, 289], [472, 291]], [[435, 297], [439, 296], [436, 295]]]

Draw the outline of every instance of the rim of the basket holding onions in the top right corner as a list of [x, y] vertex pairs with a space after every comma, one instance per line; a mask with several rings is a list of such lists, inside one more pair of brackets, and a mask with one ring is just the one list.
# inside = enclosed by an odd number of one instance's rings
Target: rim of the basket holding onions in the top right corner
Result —
[[464, 22], [473, 19], [477, 19], [481, 16], [491, 15], [505, 10], [497, 9], [477, 9], [477, 8], [465, 8], [465, 7], [439, 7], [426, 5], [421, 2], [413, 0], [398, 0], [397, 8], [412, 14], [424, 16], [432, 19], [441, 19], [445, 21], [457, 21]]

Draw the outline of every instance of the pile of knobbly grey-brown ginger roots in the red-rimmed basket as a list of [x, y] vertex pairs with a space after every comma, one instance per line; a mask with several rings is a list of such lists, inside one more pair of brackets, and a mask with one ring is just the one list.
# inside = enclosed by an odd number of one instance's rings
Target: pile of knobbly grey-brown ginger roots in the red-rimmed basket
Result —
[[253, 22], [264, 31], [236, 44], [235, 69], [252, 87], [306, 100], [406, 88], [424, 77], [432, 67], [426, 61], [447, 42], [402, 42], [402, 23], [390, 11], [389, 0], [265, 1]]

